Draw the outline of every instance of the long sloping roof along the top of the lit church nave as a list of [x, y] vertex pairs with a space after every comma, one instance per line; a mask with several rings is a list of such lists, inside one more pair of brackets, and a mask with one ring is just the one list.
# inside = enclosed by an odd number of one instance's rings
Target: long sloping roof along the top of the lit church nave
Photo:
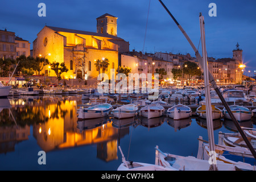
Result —
[[56, 31], [56, 32], [68, 32], [68, 33], [73, 33], [73, 34], [101, 36], [101, 37], [105, 37], [105, 38], [123, 40], [122, 38], [118, 38], [117, 36], [110, 35], [110, 34], [100, 34], [100, 33], [96, 33], [96, 32], [88, 32], [88, 31], [82, 31], [82, 30], [73, 30], [73, 29], [68, 29], [68, 28], [51, 27], [51, 26], [46, 26], [46, 27], [51, 28], [53, 31]]

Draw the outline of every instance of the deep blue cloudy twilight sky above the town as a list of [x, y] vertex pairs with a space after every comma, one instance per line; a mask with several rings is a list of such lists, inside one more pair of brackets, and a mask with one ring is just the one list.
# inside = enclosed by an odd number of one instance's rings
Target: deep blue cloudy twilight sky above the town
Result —
[[[238, 42], [243, 49], [245, 71], [256, 70], [256, 1], [162, 1], [196, 47], [200, 41], [199, 13], [203, 14], [208, 56], [216, 59], [232, 57]], [[41, 2], [46, 4], [46, 17], [38, 16]], [[210, 3], [216, 3], [217, 17], [208, 15]], [[184, 35], [158, 0], [9, 0], [1, 1], [0, 5], [0, 29], [6, 28], [29, 40], [31, 49], [36, 34], [46, 24], [96, 32], [96, 18], [109, 13], [118, 17], [118, 36], [130, 42], [130, 51], [190, 53], [195, 57]], [[201, 44], [199, 52], [202, 55]]]

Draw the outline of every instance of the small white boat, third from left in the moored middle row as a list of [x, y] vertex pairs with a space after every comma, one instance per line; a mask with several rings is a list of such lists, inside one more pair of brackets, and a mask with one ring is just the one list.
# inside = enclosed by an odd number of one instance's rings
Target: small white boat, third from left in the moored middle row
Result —
[[139, 111], [142, 117], [150, 118], [157, 118], [161, 117], [164, 113], [164, 107], [159, 104], [150, 104], [144, 106]]

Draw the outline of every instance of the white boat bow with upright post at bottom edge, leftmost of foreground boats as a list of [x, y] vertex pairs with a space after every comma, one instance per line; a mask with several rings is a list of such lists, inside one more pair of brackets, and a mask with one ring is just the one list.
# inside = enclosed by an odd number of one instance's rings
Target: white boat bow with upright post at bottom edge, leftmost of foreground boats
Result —
[[[177, 171], [177, 169], [172, 167], [162, 167], [155, 164], [126, 161], [120, 146], [119, 150], [122, 155], [122, 163], [118, 167], [117, 171]], [[148, 176], [148, 179], [150, 179], [150, 176]]]

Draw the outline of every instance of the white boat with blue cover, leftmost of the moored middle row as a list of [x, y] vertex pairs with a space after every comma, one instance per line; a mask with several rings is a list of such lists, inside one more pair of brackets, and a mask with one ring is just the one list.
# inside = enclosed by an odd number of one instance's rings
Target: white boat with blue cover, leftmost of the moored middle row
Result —
[[90, 118], [101, 118], [107, 116], [113, 109], [110, 104], [98, 104], [91, 107], [81, 107], [79, 109], [79, 120], [90, 119]]

